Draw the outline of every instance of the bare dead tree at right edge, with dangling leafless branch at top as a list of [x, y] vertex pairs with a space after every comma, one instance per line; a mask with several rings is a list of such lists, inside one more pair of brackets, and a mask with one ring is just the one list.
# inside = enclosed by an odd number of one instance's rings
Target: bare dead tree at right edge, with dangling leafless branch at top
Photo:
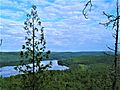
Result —
[[[89, 6], [89, 8], [88, 8]], [[91, 10], [92, 7], [92, 0], [89, 0], [84, 9], [83, 9], [83, 15], [85, 16], [85, 18], [87, 19], [87, 8], [89, 9], [89, 11]], [[118, 65], [118, 36], [119, 36], [119, 20], [120, 20], [120, 15], [119, 15], [119, 0], [116, 0], [116, 15], [111, 15], [111, 14], [107, 14], [105, 12], [103, 12], [103, 14], [107, 17], [108, 21], [105, 23], [100, 23], [102, 25], [104, 25], [105, 27], [108, 26], [112, 26], [112, 29], [115, 31], [115, 33], [113, 34], [113, 37], [115, 39], [115, 46], [114, 48], [111, 48], [109, 46], [108, 49], [112, 50], [114, 52], [114, 65], [113, 65], [113, 70], [112, 70], [112, 90], [116, 90], [117, 86], [117, 65]]]

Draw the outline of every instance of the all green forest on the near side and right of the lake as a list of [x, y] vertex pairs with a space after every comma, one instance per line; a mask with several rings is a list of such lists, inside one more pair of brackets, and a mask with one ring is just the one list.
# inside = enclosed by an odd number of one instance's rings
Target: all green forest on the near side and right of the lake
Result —
[[[111, 90], [112, 60], [112, 56], [104, 55], [82, 55], [62, 60], [59, 63], [70, 69], [37, 73], [36, 90]], [[117, 90], [120, 90], [119, 67]], [[0, 90], [24, 90], [25, 84], [29, 85], [29, 80], [23, 80], [22, 75], [0, 78]], [[30, 87], [27, 88], [30, 90]]]

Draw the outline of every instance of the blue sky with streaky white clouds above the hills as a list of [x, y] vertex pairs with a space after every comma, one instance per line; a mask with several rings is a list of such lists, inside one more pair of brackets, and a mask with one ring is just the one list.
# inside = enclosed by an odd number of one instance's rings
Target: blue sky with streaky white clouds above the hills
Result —
[[[20, 51], [24, 44], [26, 14], [37, 6], [44, 28], [47, 50], [55, 52], [108, 51], [114, 47], [113, 30], [100, 25], [115, 15], [116, 0], [92, 0], [88, 19], [82, 14], [87, 0], [0, 0], [0, 50]], [[119, 36], [120, 38], [120, 36]]]

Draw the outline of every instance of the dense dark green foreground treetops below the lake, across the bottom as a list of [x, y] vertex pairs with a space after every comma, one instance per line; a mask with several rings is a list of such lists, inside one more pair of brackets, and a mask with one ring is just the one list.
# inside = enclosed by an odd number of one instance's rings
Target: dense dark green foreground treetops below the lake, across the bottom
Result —
[[[93, 64], [82, 69], [77, 64], [65, 71], [36, 73], [39, 76], [37, 90], [111, 90], [109, 68], [105, 64]], [[21, 75], [0, 78], [2, 82], [2, 84], [0, 82], [0, 86], [2, 90], [23, 90], [21, 80]], [[118, 90], [119, 85], [120, 79], [117, 82]]]

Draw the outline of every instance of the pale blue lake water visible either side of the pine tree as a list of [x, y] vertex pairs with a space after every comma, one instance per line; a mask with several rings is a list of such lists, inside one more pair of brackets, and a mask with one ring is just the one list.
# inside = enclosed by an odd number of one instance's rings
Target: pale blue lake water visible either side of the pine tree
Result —
[[[69, 69], [66, 66], [58, 65], [58, 60], [51, 60], [51, 62], [52, 62], [52, 66], [51, 66], [51, 68], [48, 68], [48, 70], [66, 70], [66, 69]], [[43, 64], [43, 65], [46, 65], [46, 64], [49, 64], [49, 63], [50, 63], [50, 61], [48, 61], [48, 60], [41, 62], [41, 64]], [[0, 76], [2, 76], [2, 77], [10, 77], [10, 76], [13, 76], [13, 75], [21, 74], [18, 71], [16, 71], [14, 69], [14, 67], [15, 66], [1, 67], [0, 68]]]

